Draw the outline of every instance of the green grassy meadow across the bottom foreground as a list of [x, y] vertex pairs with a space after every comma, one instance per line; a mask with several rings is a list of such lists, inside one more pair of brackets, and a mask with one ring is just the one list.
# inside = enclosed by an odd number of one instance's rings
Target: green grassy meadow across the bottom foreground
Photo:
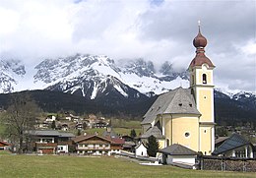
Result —
[[255, 177], [255, 173], [140, 165], [126, 158], [0, 155], [1, 177]]

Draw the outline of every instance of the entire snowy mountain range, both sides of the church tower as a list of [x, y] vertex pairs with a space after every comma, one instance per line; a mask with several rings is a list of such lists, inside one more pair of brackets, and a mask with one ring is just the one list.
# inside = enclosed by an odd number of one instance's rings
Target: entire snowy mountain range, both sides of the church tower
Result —
[[[125, 61], [125, 62], [124, 62]], [[140, 98], [160, 94], [189, 85], [186, 71], [175, 72], [169, 62], [157, 71], [153, 62], [144, 59], [120, 60], [107, 56], [76, 54], [69, 57], [45, 59], [34, 68], [32, 80], [25, 80], [25, 66], [16, 60], [0, 61], [0, 92], [19, 90], [26, 81], [28, 89], [60, 90], [96, 99], [103, 95]], [[24, 89], [24, 88], [23, 88]], [[255, 100], [256, 94], [244, 91], [216, 89], [217, 97], [233, 100]], [[222, 93], [222, 94], [221, 94]]]

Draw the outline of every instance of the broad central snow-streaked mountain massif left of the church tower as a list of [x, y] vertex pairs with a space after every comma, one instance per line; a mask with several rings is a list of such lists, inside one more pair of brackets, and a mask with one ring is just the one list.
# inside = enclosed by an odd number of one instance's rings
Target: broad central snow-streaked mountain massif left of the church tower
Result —
[[[164, 63], [163, 67], [166, 68], [166, 65]], [[160, 94], [179, 86], [188, 87], [184, 72], [175, 73], [172, 70], [168, 71], [168, 75], [157, 74], [154, 64], [143, 59], [117, 65], [107, 56], [77, 54], [46, 59], [35, 69], [34, 82], [45, 83], [45, 89], [80, 93], [91, 99], [103, 92], [107, 94], [109, 85], [124, 97], [129, 97], [131, 89], [137, 90], [136, 97], [141, 93]]]

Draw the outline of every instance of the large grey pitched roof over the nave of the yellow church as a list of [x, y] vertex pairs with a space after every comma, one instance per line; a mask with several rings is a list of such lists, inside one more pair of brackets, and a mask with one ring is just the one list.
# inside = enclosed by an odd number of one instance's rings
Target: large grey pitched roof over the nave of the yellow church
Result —
[[196, 103], [191, 89], [177, 88], [160, 94], [144, 116], [141, 124], [152, 123], [159, 114], [197, 114]]

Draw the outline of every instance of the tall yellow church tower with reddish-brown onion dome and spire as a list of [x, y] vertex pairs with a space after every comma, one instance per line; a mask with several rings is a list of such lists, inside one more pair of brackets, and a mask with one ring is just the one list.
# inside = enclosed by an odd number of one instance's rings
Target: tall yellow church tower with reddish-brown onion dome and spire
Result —
[[214, 81], [212, 61], [205, 55], [207, 39], [200, 30], [193, 40], [196, 56], [189, 65], [190, 89], [201, 116], [199, 118], [199, 150], [211, 154], [215, 148]]

